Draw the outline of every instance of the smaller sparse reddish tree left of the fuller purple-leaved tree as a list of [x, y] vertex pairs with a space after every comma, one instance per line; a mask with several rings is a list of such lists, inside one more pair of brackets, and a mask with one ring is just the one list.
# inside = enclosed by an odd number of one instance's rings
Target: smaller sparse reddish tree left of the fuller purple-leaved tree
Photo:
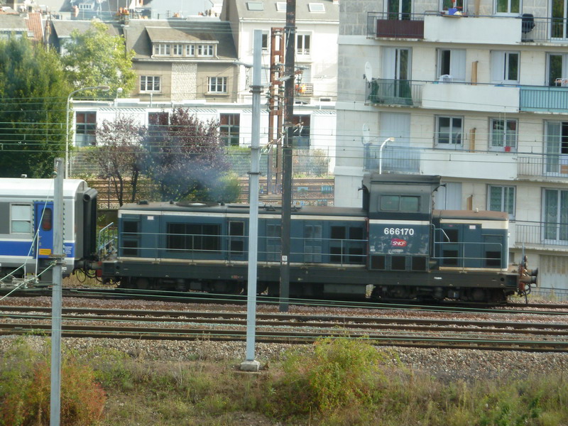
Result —
[[104, 120], [96, 133], [97, 146], [89, 157], [99, 165], [99, 177], [111, 180], [120, 205], [125, 202], [125, 186], [130, 187], [129, 202], [134, 202], [143, 157], [141, 141], [146, 128], [136, 124], [131, 116], [118, 116], [115, 121]]

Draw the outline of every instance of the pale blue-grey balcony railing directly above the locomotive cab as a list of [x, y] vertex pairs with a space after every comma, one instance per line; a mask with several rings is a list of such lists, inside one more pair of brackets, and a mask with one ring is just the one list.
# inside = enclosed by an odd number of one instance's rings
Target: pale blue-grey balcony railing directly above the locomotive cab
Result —
[[383, 146], [367, 143], [364, 146], [364, 170], [384, 173], [420, 173], [420, 149], [408, 146]]

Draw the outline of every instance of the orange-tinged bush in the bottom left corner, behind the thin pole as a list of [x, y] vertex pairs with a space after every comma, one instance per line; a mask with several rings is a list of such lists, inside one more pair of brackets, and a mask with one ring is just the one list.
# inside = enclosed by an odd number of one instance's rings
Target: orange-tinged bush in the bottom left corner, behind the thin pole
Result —
[[[0, 425], [49, 425], [50, 362], [48, 351], [31, 351], [22, 341], [2, 359], [0, 368]], [[62, 425], [94, 425], [106, 396], [94, 372], [73, 358], [61, 368]]]

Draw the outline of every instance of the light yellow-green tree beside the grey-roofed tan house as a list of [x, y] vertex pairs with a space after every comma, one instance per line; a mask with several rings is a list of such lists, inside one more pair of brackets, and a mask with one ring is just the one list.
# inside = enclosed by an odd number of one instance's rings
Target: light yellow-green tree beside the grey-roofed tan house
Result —
[[[106, 85], [110, 93], [124, 89], [127, 96], [136, 82], [136, 72], [132, 69], [133, 51], [126, 52], [124, 38], [111, 35], [109, 27], [102, 22], [92, 21], [84, 33], [72, 31], [70, 40], [65, 43], [67, 53], [62, 55], [67, 80], [73, 87], [94, 87]], [[95, 92], [85, 90], [84, 96]]]

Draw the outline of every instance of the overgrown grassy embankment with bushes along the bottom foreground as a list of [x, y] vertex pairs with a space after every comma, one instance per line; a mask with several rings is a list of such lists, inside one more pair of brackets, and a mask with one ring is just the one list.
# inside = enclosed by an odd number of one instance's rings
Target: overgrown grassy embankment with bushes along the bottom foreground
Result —
[[[261, 373], [240, 361], [163, 362], [105, 349], [65, 351], [62, 425], [565, 425], [555, 376], [451, 381], [408, 371], [356, 339], [322, 339]], [[48, 347], [2, 354], [0, 425], [48, 425]]]

